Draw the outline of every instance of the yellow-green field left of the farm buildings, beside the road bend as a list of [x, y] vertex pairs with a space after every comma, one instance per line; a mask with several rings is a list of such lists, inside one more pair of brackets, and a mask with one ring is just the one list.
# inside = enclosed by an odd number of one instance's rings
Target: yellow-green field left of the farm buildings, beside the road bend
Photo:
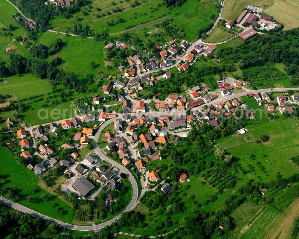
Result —
[[273, 0], [252, 0], [250, 2], [246, 0], [225, 0], [221, 17], [226, 20], [236, 20], [242, 13], [242, 10], [248, 6], [248, 4], [254, 4], [260, 7], [263, 5], [271, 5]]

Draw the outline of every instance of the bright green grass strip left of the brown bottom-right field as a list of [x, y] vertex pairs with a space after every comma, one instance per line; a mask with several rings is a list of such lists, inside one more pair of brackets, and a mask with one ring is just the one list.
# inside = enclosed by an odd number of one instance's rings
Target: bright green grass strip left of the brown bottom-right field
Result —
[[261, 214], [257, 220], [245, 231], [245, 233], [240, 235], [239, 238], [264, 238], [268, 230], [271, 228], [273, 223], [278, 220], [280, 215], [281, 211], [268, 206], [263, 214]]

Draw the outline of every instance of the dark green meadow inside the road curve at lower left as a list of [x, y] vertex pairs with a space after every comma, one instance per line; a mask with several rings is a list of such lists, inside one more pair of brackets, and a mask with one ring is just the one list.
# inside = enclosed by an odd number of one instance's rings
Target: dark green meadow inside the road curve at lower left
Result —
[[[17, 203], [49, 217], [66, 223], [71, 223], [74, 209], [59, 198], [54, 197], [40, 188], [38, 185], [40, 179], [32, 171], [30, 171], [29, 168], [26, 168], [24, 165], [20, 165], [18, 162], [16, 162], [13, 155], [5, 147], [0, 147], [0, 162], [0, 173], [6, 180], [5, 186], [19, 189], [18, 196], [20, 200]], [[33, 194], [30, 192], [31, 188], [38, 189], [38, 192]], [[45, 202], [40, 198], [40, 196], [44, 193], [47, 193], [49, 196], [49, 200]], [[33, 196], [35, 202], [28, 203], [26, 200], [28, 195]], [[59, 207], [63, 208], [65, 214], [60, 215], [55, 208], [50, 206], [50, 203], [57, 203]]]

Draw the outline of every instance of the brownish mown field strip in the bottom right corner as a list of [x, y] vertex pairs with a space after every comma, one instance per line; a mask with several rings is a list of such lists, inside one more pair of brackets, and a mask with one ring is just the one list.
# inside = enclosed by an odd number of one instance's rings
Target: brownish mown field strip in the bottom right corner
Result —
[[299, 216], [299, 198], [292, 202], [283, 214], [278, 218], [265, 239], [288, 239], [291, 238], [295, 219]]

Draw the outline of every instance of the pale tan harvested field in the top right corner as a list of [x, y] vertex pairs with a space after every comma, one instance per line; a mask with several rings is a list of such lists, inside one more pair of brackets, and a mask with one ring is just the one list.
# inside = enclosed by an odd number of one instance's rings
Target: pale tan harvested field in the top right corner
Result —
[[265, 10], [266, 14], [285, 26], [285, 29], [299, 27], [299, 1], [295, 0], [274, 0], [274, 3]]

